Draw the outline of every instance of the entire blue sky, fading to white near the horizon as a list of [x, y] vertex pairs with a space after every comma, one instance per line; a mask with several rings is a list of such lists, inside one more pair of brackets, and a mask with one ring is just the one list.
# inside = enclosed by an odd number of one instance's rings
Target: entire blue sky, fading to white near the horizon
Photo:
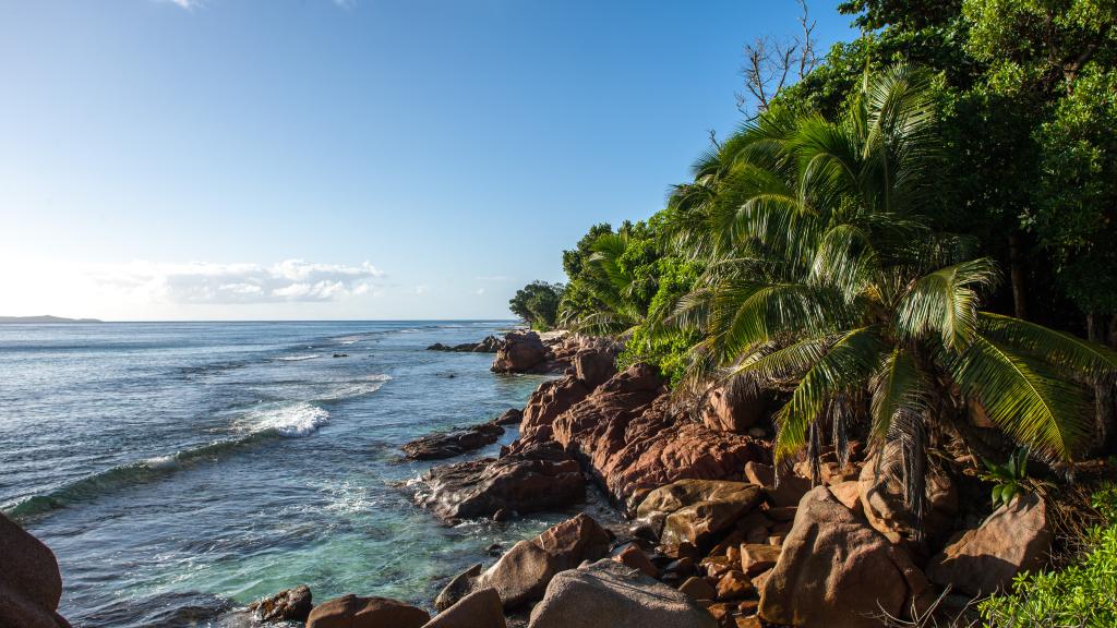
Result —
[[[810, 2], [822, 49], [856, 32]], [[0, 315], [508, 318], [793, 0], [0, 0]]]

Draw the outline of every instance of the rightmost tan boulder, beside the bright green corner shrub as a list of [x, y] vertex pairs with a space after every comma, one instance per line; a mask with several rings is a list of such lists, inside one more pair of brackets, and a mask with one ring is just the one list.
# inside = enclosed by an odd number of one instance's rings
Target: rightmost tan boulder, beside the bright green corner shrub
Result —
[[1021, 495], [933, 558], [927, 577], [973, 596], [1008, 590], [1016, 573], [1043, 567], [1051, 537], [1043, 499]]

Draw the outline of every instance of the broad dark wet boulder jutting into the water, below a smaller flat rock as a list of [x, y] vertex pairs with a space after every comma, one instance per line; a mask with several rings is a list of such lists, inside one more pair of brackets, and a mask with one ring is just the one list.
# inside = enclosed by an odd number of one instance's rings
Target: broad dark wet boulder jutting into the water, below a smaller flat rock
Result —
[[417, 501], [443, 521], [560, 508], [585, 498], [581, 467], [554, 445], [435, 467], [423, 479], [430, 491]]

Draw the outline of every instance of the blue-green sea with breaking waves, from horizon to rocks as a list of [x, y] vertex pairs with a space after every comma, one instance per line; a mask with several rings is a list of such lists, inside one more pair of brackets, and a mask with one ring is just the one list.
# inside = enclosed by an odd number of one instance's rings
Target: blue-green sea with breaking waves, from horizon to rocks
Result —
[[446, 527], [411, 501], [429, 464], [401, 444], [542, 381], [424, 348], [506, 326], [0, 325], [0, 508], [57, 554], [75, 626], [245, 625], [300, 583], [429, 607], [490, 543], [564, 516]]

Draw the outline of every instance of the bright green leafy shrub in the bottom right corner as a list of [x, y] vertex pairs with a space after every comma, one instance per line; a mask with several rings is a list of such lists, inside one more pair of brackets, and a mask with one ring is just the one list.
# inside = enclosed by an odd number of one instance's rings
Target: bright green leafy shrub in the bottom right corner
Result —
[[1061, 571], [1018, 575], [1011, 594], [978, 606], [986, 626], [1117, 626], [1117, 487], [1100, 491], [1094, 503], [1107, 522], [1088, 533], [1081, 560]]

